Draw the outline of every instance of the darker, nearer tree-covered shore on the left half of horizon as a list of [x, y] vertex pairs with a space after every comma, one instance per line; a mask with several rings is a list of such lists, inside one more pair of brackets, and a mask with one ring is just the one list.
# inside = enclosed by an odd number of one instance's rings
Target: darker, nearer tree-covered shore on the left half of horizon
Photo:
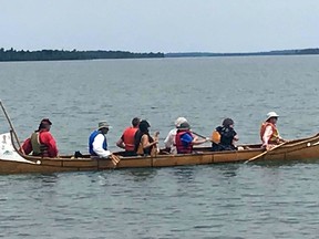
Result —
[[72, 51], [41, 50], [17, 51], [0, 49], [0, 61], [63, 61], [63, 60], [93, 60], [93, 59], [143, 59], [164, 58], [164, 53], [133, 53], [128, 51]]

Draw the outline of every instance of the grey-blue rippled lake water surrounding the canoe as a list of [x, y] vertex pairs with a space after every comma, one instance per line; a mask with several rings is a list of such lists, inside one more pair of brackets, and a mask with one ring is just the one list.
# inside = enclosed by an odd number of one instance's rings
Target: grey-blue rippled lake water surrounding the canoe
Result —
[[[117, 150], [134, 116], [162, 146], [178, 116], [207, 136], [231, 117], [240, 143], [257, 143], [276, 111], [290, 139], [319, 132], [318, 65], [317, 55], [2, 62], [0, 98], [21, 141], [50, 117], [61, 154], [86, 153], [101, 119]], [[318, 175], [315, 159], [0, 176], [0, 238], [318, 238]]]

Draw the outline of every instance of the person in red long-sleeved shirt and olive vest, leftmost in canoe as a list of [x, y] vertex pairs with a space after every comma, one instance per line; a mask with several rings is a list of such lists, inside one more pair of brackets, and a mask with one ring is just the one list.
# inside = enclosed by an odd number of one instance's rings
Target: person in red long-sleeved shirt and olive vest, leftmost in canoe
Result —
[[56, 157], [58, 147], [54, 137], [50, 133], [51, 121], [43, 118], [40, 122], [38, 131], [33, 132], [22, 144], [23, 152], [33, 156]]

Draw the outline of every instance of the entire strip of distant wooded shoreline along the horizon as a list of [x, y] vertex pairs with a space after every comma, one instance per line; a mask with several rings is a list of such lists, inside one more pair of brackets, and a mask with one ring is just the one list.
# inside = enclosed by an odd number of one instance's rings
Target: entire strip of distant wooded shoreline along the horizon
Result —
[[269, 52], [248, 53], [209, 53], [209, 52], [181, 52], [181, 53], [134, 53], [128, 51], [72, 51], [39, 50], [17, 51], [14, 49], [0, 49], [0, 62], [4, 61], [66, 61], [66, 60], [95, 60], [95, 59], [154, 59], [154, 58], [199, 58], [199, 56], [249, 56], [249, 55], [305, 55], [319, 54], [319, 49], [282, 50]]

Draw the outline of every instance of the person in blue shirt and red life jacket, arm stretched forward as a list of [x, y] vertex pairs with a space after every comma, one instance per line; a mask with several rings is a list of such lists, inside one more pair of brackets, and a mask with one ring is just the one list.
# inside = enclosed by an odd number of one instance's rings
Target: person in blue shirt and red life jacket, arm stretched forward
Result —
[[192, 154], [193, 146], [204, 144], [207, 139], [198, 139], [191, 132], [191, 125], [185, 122], [182, 123], [175, 136], [177, 154]]

